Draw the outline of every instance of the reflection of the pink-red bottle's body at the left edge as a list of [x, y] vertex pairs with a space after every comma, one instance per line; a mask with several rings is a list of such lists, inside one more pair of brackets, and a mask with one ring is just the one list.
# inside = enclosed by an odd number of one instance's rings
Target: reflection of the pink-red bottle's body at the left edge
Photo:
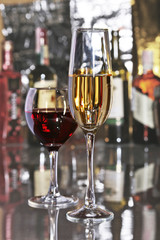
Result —
[[22, 199], [21, 188], [21, 145], [2, 146], [0, 148], [0, 202], [13, 203], [19, 202]]

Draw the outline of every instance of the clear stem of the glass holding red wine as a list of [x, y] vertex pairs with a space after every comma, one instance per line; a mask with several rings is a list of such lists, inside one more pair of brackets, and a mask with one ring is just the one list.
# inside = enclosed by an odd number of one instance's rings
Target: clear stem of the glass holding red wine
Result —
[[48, 194], [53, 195], [53, 197], [60, 196], [58, 190], [58, 151], [51, 151], [49, 153], [49, 160], [50, 160], [50, 187]]

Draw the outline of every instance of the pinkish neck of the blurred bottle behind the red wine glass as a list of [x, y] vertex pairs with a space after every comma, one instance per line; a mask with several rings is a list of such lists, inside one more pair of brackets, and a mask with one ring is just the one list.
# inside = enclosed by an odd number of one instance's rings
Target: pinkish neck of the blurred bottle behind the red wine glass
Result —
[[49, 66], [49, 51], [46, 29], [36, 29], [36, 63]]

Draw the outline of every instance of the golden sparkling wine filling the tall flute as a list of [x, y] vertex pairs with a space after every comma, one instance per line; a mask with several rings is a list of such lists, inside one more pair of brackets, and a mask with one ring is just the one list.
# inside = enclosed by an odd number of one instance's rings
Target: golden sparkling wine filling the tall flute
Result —
[[106, 121], [112, 100], [111, 81], [106, 74], [70, 76], [70, 109], [84, 131], [94, 132]]

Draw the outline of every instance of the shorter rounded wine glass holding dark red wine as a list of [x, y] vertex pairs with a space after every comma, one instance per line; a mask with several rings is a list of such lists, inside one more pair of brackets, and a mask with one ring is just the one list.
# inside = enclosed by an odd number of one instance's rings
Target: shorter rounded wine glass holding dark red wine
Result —
[[78, 203], [74, 196], [62, 196], [58, 189], [58, 150], [74, 133], [76, 122], [68, 106], [68, 90], [30, 88], [25, 102], [25, 116], [31, 132], [49, 151], [50, 186], [45, 196], [35, 196], [28, 204], [35, 208], [66, 208]]

